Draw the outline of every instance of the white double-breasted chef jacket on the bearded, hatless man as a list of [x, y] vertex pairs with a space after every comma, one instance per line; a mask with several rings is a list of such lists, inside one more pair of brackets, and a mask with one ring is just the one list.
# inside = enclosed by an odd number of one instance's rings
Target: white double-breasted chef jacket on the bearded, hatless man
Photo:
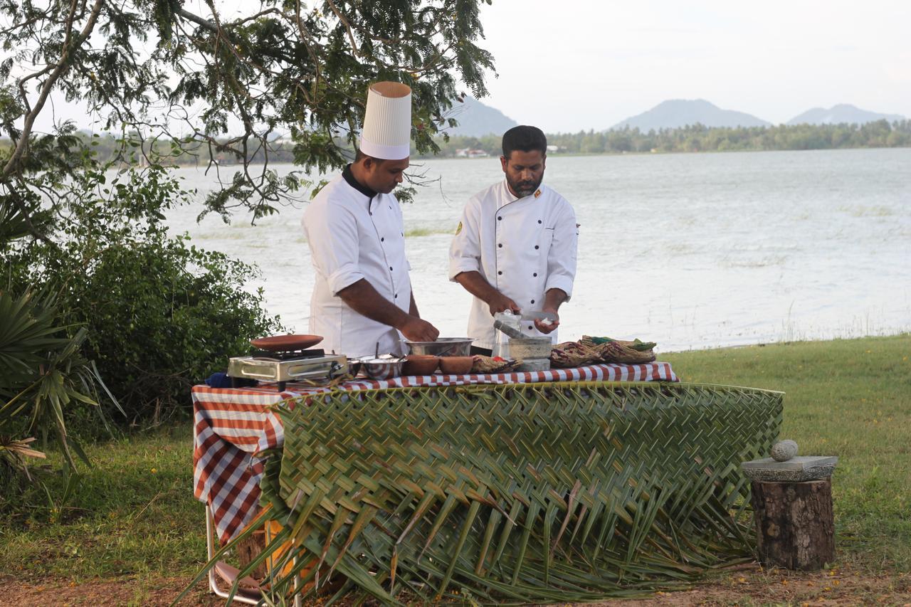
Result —
[[[476, 271], [522, 310], [540, 310], [549, 289], [572, 295], [577, 243], [576, 213], [565, 198], [541, 185], [534, 194], [517, 199], [503, 180], [466, 204], [449, 247], [449, 280]], [[522, 331], [544, 335], [532, 322], [523, 321]], [[477, 347], [494, 347], [494, 318], [477, 297], [468, 335]], [[557, 343], [557, 331], [548, 336]]]

